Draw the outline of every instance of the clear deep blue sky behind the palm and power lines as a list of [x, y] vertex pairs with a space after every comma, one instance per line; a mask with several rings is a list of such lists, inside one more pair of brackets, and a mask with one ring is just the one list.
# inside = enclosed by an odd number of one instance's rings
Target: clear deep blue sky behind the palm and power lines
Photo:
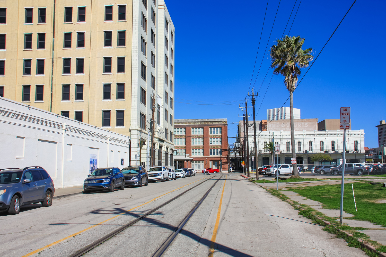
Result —
[[[239, 100], [248, 93], [267, 1], [165, 2], [176, 29], [174, 117], [239, 121]], [[288, 34], [299, 2], [284, 35]], [[352, 2], [301, 0], [288, 35], [304, 37], [303, 49], [314, 49], [316, 57]], [[262, 62], [254, 85], [255, 90], [260, 88], [257, 120], [266, 119], [266, 109], [281, 107], [289, 96], [282, 76], [273, 76], [269, 84], [272, 70], [263, 82], [270, 64], [268, 50], [281, 38], [295, 0], [281, 0], [279, 9], [278, 4], [279, 0], [269, 0], [252, 81], [253, 85]], [[385, 65], [378, 58], [383, 59], [384, 53], [379, 50], [384, 49], [386, 41], [385, 10], [383, 0], [357, 0], [294, 92], [294, 107], [301, 109], [302, 119], [338, 119], [339, 108], [350, 106], [352, 129], [364, 129], [369, 148], [378, 147], [375, 126], [386, 119]], [[220, 101], [239, 102], [206, 105]], [[289, 106], [289, 101], [284, 106]], [[229, 124], [228, 133], [235, 136], [237, 124]]]

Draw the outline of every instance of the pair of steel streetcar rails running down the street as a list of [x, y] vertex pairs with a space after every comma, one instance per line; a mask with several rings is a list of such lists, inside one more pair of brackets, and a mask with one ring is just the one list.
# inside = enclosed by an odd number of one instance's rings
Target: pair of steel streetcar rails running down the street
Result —
[[[210, 190], [212, 190], [212, 188], [217, 184], [217, 182], [218, 182], [222, 177], [223, 177], [223, 175], [220, 176], [220, 178], [217, 179], [217, 181], [212, 185], [212, 187], [210, 188]], [[129, 223], [127, 223], [127, 224], [121, 226], [120, 228], [117, 228], [117, 229], [114, 230], [113, 232], [108, 233], [107, 235], [105, 235], [105, 236], [102, 237], [101, 239], [98, 239], [97, 241], [95, 241], [95, 242], [93, 242], [93, 243], [87, 245], [86, 247], [83, 247], [81, 250], [79, 250], [79, 251], [76, 252], [75, 254], [70, 255], [69, 257], [80, 257], [80, 256], [82, 256], [82, 255], [85, 254], [86, 252], [88, 252], [88, 251], [94, 249], [94, 248], [97, 247], [98, 245], [103, 244], [103, 242], [105, 242], [105, 241], [107, 241], [108, 239], [114, 237], [115, 235], [117, 235], [118, 233], [122, 232], [122, 231], [125, 230], [126, 228], [128, 228], [128, 227], [134, 225], [135, 223], [139, 222], [140, 220], [144, 219], [145, 217], [147, 217], [147, 216], [150, 215], [151, 213], [153, 213], [153, 212], [155, 212], [156, 210], [158, 210], [159, 208], [161, 208], [161, 207], [167, 205], [168, 203], [173, 202], [174, 200], [176, 200], [176, 199], [179, 198], [180, 196], [184, 195], [185, 193], [187, 193], [188, 191], [192, 190], [193, 188], [196, 188], [197, 186], [201, 185], [202, 183], [204, 183], [204, 182], [210, 180], [211, 178], [212, 178], [212, 177], [205, 179], [204, 181], [202, 181], [202, 182], [198, 183], [197, 185], [195, 185], [195, 186], [193, 186], [193, 187], [191, 187], [191, 188], [189, 188], [189, 189], [183, 191], [183, 192], [180, 193], [179, 195], [177, 195], [177, 196], [171, 198], [170, 200], [168, 200], [168, 201], [162, 203], [161, 205], [158, 205], [157, 207], [155, 207], [155, 208], [153, 208], [153, 209], [147, 211], [146, 213], [142, 214], [142, 215], [139, 216], [138, 218], [135, 218], [135, 219], [132, 220], [131, 222], [129, 222]], [[198, 206], [201, 204], [201, 202], [207, 197], [207, 195], [209, 194], [210, 190], [208, 190], [207, 193], [204, 195], [204, 197], [201, 198], [200, 202], [198, 202], [198, 203], [195, 205], [195, 207], [193, 208], [194, 211], [196, 210], [196, 208], [198, 208]], [[192, 210], [193, 210], [193, 209], [192, 209]], [[192, 211], [190, 212], [191, 215], [194, 213], [194, 211], [193, 211], [193, 212], [192, 212]], [[190, 213], [189, 213], [189, 214], [190, 214]], [[188, 214], [188, 216], [189, 216], [189, 214]], [[191, 215], [189, 216], [189, 218], [191, 217]], [[188, 216], [186, 216], [186, 217], [188, 217]], [[185, 218], [186, 218], [186, 217], [185, 217]], [[185, 218], [184, 218], [184, 220], [185, 220]], [[188, 218], [188, 219], [189, 219], [189, 218]], [[185, 221], [185, 223], [188, 221], [188, 219]], [[183, 220], [183, 221], [184, 221], [184, 220]], [[184, 225], [185, 225], [185, 223], [184, 223]], [[181, 224], [180, 224], [180, 225], [181, 225]], [[180, 225], [179, 225], [179, 226], [180, 226]], [[179, 227], [179, 226], [178, 226], [178, 227]], [[178, 228], [178, 227], [177, 227], [177, 228]], [[183, 227], [183, 225], [181, 226], [181, 228], [182, 228], [182, 227]], [[181, 230], [181, 228], [180, 228], [179, 230]], [[178, 231], [179, 231], [179, 230], [178, 230]], [[177, 234], [176, 234], [176, 235], [177, 235]], [[175, 237], [175, 236], [174, 236], [174, 237]], [[173, 238], [173, 239], [174, 239], [174, 238]], [[170, 244], [170, 243], [169, 243], [169, 244]], [[169, 245], [169, 244], [168, 244], [168, 245]], [[167, 246], [166, 246], [166, 248], [167, 248]], [[165, 250], [166, 250], [166, 248], [165, 248]], [[161, 254], [162, 254], [162, 253], [161, 253]], [[160, 256], [160, 255], [156, 255], [156, 256]]]

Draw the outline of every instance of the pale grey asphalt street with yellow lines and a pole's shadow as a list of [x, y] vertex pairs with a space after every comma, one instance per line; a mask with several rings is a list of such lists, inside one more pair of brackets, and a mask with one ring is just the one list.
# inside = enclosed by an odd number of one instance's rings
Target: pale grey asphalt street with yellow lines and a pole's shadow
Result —
[[54, 200], [51, 207], [34, 204], [19, 215], [3, 214], [0, 256], [70, 256], [205, 180], [85, 254], [152, 256], [218, 178], [163, 256], [366, 256], [239, 173], [73, 195]]

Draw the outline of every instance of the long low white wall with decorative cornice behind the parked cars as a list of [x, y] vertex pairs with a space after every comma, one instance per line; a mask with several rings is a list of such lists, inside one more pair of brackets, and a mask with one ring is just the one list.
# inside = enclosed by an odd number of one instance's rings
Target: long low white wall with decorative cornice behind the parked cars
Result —
[[0, 169], [41, 166], [55, 188], [129, 166], [130, 137], [0, 97]]

